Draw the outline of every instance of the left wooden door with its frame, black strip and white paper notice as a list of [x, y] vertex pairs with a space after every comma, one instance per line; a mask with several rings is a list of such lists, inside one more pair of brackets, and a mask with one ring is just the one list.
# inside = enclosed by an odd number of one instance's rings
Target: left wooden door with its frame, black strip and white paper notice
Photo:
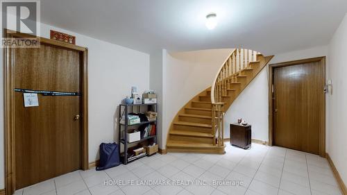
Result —
[[88, 169], [87, 48], [40, 37], [3, 51], [6, 194]]

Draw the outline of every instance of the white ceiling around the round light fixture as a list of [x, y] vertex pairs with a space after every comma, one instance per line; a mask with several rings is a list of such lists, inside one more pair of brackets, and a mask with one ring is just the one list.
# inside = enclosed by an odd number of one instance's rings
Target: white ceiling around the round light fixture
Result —
[[[346, 0], [42, 0], [41, 21], [150, 53], [244, 48], [276, 54], [328, 44]], [[219, 24], [205, 27], [216, 12]], [[78, 37], [77, 37], [78, 39]]]

